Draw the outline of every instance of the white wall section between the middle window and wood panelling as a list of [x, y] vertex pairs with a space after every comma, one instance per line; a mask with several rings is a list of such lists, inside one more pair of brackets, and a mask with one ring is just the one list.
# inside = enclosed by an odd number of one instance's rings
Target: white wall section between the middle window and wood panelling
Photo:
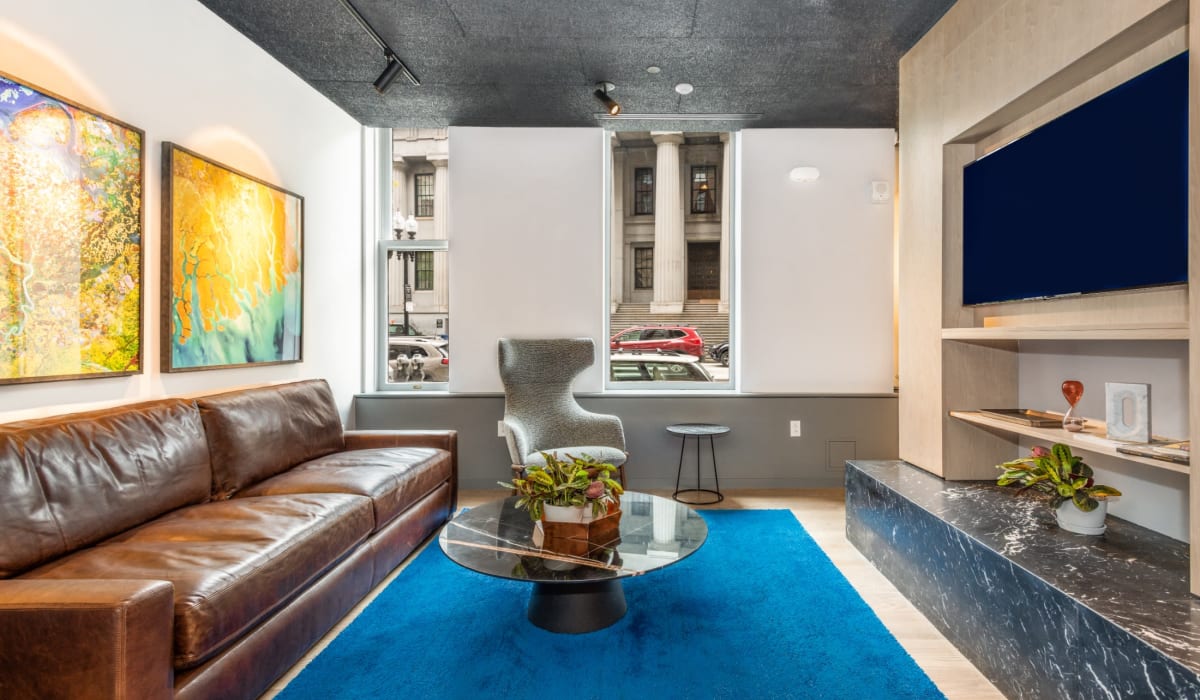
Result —
[[892, 391], [893, 204], [872, 180], [894, 185], [890, 128], [743, 132], [743, 390]]

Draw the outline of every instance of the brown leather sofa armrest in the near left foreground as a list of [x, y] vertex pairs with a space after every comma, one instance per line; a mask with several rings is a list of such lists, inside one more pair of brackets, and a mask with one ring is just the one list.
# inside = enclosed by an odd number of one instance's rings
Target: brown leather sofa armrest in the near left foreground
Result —
[[0, 581], [0, 698], [174, 696], [168, 581]]

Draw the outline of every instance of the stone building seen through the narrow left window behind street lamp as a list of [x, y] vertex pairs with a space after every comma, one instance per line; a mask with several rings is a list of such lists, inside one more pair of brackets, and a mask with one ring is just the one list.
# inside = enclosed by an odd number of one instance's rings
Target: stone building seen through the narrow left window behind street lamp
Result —
[[[395, 238], [408, 238], [403, 223], [416, 221], [412, 238], [449, 240], [450, 139], [445, 128], [394, 128], [391, 211]], [[397, 226], [398, 225], [398, 226]], [[406, 269], [407, 268], [407, 269]], [[388, 319], [403, 335], [408, 323], [420, 335], [449, 335], [449, 280], [445, 252], [422, 251], [388, 261]], [[407, 289], [404, 281], [408, 281]]]

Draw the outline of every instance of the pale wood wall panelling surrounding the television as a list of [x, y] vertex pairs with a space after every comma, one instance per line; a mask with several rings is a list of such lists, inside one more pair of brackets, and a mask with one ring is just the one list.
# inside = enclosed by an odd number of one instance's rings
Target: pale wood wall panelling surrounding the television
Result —
[[[960, 190], [944, 178], [965, 157], [958, 144], [992, 148], [1177, 53], [1187, 12], [1186, 0], [959, 0], [900, 60], [902, 459], [962, 478], [955, 475], [983, 467], [959, 462], [972, 454], [988, 462], [1003, 444], [973, 427], [959, 430], [947, 411], [1009, 395], [1015, 401], [1015, 352], [960, 347], [942, 340], [942, 328], [1187, 325], [1181, 287], [964, 309], [961, 263], [950, 259], [960, 255], [961, 216], [946, 202]], [[1193, 167], [1195, 152], [1193, 146]], [[1194, 174], [1193, 189], [1196, 181]], [[1200, 363], [1195, 348], [1193, 359]], [[1192, 406], [1192, 415], [1200, 414], [1196, 400]], [[948, 467], [950, 456], [955, 465]]]

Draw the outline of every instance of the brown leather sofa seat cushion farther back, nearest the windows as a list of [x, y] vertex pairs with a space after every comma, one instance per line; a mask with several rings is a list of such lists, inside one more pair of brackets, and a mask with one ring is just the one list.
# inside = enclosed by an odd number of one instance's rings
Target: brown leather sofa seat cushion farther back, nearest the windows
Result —
[[374, 530], [444, 484], [454, 469], [449, 451], [392, 447], [348, 450], [298, 465], [244, 489], [238, 496], [356, 493], [371, 498]]

